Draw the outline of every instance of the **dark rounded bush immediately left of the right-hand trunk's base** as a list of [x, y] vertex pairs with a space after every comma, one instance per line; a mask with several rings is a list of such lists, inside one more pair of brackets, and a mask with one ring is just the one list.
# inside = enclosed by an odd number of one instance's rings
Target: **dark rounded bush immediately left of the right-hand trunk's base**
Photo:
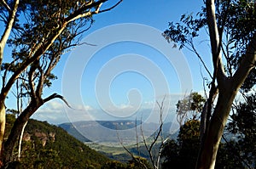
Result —
[[177, 141], [169, 140], [162, 152], [162, 168], [195, 168], [196, 157], [200, 147], [200, 122], [186, 121], [177, 136]]

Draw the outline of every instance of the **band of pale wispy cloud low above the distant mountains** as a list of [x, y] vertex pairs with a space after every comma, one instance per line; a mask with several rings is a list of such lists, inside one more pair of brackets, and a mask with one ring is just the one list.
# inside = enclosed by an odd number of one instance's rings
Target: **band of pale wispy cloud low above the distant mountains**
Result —
[[[90, 105], [72, 105], [73, 109], [67, 107], [61, 101], [53, 100], [41, 107], [32, 118], [49, 123], [60, 124], [74, 121], [111, 121], [111, 120], [143, 120], [158, 123], [160, 110], [157, 102], [164, 99], [164, 120], [176, 121], [177, 100], [183, 94], [166, 94], [154, 100], [144, 101], [139, 106], [133, 104], [119, 104], [108, 108], [95, 108]], [[157, 101], [157, 102], [156, 102]]]

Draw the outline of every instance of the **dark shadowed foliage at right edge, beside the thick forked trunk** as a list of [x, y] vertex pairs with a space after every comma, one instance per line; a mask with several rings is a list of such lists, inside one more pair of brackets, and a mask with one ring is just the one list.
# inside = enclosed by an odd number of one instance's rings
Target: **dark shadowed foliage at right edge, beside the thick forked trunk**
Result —
[[236, 112], [231, 115], [227, 131], [236, 138], [236, 155], [240, 155], [248, 168], [255, 166], [256, 159], [256, 94], [247, 96], [244, 103], [236, 106]]

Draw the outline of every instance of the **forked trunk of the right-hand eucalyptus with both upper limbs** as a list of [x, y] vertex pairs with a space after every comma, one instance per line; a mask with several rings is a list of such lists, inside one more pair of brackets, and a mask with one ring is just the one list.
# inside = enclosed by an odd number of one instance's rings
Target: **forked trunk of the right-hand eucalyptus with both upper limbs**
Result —
[[247, 44], [246, 54], [241, 59], [234, 76], [225, 76], [224, 65], [221, 61], [222, 55], [220, 54], [222, 32], [218, 32], [217, 29], [214, 0], [207, 0], [206, 5], [207, 25], [212, 48], [212, 64], [214, 67], [213, 82], [216, 78], [219, 93], [209, 127], [202, 139], [201, 152], [196, 166], [198, 169], [214, 168], [218, 145], [230, 114], [231, 105], [236, 97], [236, 93], [247, 78], [250, 70], [255, 67], [256, 62], [256, 34], [254, 34], [251, 42]]

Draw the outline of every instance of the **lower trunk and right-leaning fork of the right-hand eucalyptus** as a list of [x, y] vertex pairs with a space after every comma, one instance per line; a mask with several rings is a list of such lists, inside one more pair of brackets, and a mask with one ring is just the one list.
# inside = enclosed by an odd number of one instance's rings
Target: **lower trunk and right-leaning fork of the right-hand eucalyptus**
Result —
[[[236, 93], [247, 78], [250, 70], [256, 63], [256, 34], [247, 46], [246, 55], [241, 59], [234, 76], [226, 79], [218, 78], [218, 101], [213, 111], [211, 122], [202, 143], [201, 155], [197, 162], [197, 168], [213, 169], [218, 152], [218, 144], [222, 137], [224, 126], [230, 114], [231, 105]], [[221, 82], [219, 82], [221, 81]]]

